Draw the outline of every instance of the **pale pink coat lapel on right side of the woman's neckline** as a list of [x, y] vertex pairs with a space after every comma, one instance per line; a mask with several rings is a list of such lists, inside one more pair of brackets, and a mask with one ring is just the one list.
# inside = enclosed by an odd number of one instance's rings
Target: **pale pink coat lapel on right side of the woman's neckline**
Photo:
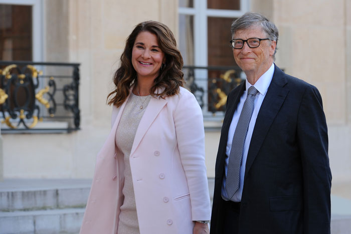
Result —
[[156, 116], [159, 114], [159, 112], [161, 111], [161, 109], [164, 107], [166, 103], [167, 101], [163, 98], [151, 97], [150, 102], [147, 105], [146, 110], [143, 116], [141, 117], [139, 126], [136, 130], [130, 155], [135, 151], [141, 139], [144, 137], [147, 129], [150, 127], [150, 125], [152, 124], [152, 122], [154, 121], [154, 119], [156, 118]]

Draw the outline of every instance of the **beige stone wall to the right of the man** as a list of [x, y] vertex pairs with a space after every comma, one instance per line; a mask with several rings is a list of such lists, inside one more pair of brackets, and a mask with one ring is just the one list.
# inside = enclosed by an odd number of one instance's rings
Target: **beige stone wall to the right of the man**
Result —
[[275, 63], [318, 88], [333, 181], [351, 179], [351, 1], [253, 0], [279, 30]]

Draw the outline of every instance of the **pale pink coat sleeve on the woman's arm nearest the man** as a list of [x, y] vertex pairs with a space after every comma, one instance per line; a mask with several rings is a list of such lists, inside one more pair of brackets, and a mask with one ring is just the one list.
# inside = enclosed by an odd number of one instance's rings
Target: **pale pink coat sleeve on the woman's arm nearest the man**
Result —
[[210, 220], [211, 204], [205, 165], [205, 132], [194, 95], [182, 92], [173, 112], [177, 143], [189, 186], [193, 220]]

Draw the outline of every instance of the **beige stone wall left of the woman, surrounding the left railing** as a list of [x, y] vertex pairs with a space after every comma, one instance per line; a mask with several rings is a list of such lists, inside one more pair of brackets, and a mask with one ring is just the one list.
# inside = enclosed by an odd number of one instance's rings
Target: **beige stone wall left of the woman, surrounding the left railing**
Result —
[[[7, 178], [89, 178], [110, 129], [112, 91], [126, 37], [146, 20], [178, 31], [178, 1], [44, 1], [44, 57], [81, 63], [81, 130], [69, 134], [6, 134]], [[1, 155], [1, 154], [0, 154]], [[0, 157], [1, 159], [1, 157]]]

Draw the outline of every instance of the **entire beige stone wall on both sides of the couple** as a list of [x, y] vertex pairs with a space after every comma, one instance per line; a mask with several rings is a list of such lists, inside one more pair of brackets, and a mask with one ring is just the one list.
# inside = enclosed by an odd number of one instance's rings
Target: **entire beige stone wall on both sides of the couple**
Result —
[[[106, 96], [126, 37], [145, 20], [178, 36], [178, 1], [44, 1], [45, 60], [81, 63], [81, 129], [70, 134], [3, 135], [4, 176], [88, 178], [110, 129]], [[334, 181], [351, 179], [351, 0], [251, 0], [279, 29], [276, 64], [315, 85], [323, 98]], [[229, 26], [228, 26], [229, 28]], [[208, 176], [220, 130], [206, 130]], [[1, 153], [1, 151], [0, 151]], [[0, 157], [1, 158], [1, 157]]]

